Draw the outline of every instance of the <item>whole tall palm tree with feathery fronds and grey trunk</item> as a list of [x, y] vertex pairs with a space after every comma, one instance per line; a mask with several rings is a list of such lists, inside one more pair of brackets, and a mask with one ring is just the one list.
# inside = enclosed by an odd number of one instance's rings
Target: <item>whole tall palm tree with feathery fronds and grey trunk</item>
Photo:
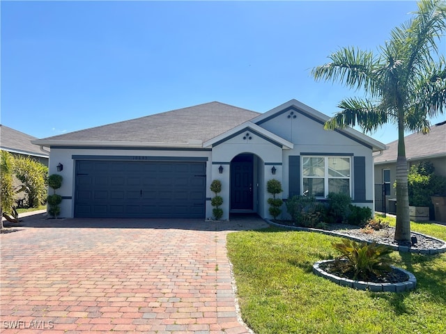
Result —
[[364, 98], [342, 100], [325, 129], [354, 127], [372, 133], [387, 122], [398, 127], [397, 227], [394, 239], [410, 241], [408, 166], [404, 131], [429, 132], [429, 118], [446, 108], [446, 66], [436, 42], [446, 30], [443, 0], [422, 0], [413, 17], [390, 33], [378, 54], [355, 47], [331, 54], [314, 67], [314, 79], [362, 89]]

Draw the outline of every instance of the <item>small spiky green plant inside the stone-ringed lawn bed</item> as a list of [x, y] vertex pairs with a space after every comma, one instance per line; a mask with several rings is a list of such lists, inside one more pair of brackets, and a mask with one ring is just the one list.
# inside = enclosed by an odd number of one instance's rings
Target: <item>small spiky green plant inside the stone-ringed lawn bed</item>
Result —
[[353, 280], [370, 280], [373, 276], [384, 276], [392, 268], [390, 253], [392, 249], [378, 245], [375, 242], [357, 243], [349, 239], [342, 239], [340, 243], [332, 243], [334, 249], [341, 252], [341, 256], [334, 262], [334, 269], [339, 273], [353, 274]]

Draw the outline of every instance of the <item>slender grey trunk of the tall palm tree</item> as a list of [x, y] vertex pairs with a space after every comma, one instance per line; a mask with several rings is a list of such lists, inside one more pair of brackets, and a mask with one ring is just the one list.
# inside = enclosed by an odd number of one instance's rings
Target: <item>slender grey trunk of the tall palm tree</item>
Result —
[[406, 145], [404, 144], [403, 118], [398, 122], [398, 157], [397, 157], [397, 225], [394, 239], [410, 242], [409, 193], [407, 184]]

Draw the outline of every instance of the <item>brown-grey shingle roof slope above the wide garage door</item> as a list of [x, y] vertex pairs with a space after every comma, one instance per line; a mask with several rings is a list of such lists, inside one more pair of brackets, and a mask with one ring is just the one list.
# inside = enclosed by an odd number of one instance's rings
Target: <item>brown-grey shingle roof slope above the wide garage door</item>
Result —
[[229, 104], [210, 102], [42, 138], [39, 141], [188, 143], [194, 140], [204, 142], [256, 116], [259, 116], [259, 113]]

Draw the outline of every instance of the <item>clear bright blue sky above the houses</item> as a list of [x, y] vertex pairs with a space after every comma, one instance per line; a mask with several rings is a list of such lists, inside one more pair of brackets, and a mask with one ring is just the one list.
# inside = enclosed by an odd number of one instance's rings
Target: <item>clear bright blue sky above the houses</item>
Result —
[[[1, 1], [1, 124], [45, 138], [212, 101], [266, 112], [291, 99], [331, 116], [357, 92], [314, 81], [312, 67], [339, 47], [377, 51], [416, 8]], [[389, 143], [397, 131], [390, 125], [371, 136]]]

